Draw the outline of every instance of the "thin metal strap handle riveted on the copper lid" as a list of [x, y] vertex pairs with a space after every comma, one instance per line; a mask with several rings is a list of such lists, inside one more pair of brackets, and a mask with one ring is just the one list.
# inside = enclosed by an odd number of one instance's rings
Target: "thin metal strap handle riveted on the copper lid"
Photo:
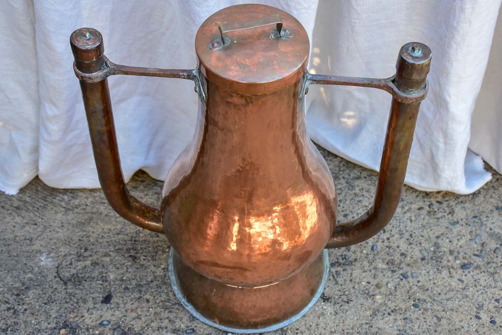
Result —
[[230, 44], [230, 39], [225, 38], [223, 36], [224, 33], [230, 33], [245, 29], [260, 28], [268, 25], [276, 25], [277, 29], [277, 35], [272, 34], [271, 39], [277, 37], [286, 37], [286, 38], [293, 37], [293, 31], [290, 29], [283, 29], [283, 22], [281, 20], [281, 17], [279, 16], [279, 14], [275, 14], [258, 19], [237, 21], [237, 22], [227, 23], [224, 25], [218, 25], [218, 30], [220, 32], [220, 39], [212, 40], [209, 43], [209, 49], [215, 51]]

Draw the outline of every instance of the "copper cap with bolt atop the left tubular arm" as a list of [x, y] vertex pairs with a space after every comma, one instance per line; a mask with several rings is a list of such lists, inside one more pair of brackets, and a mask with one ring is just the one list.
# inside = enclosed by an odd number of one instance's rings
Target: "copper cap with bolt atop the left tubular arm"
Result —
[[75, 30], [70, 36], [70, 46], [80, 71], [92, 73], [103, 67], [103, 37], [96, 29]]

